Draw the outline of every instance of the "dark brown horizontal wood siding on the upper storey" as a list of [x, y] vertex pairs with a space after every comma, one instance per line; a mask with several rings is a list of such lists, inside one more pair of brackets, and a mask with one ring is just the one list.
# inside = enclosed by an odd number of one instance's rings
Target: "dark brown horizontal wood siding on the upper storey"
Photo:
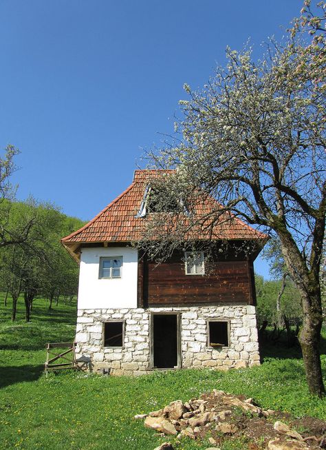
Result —
[[211, 263], [210, 274], [204, 276], [186, 275], [184, 263], [180, 260], [160, 265], [144, 260], [141, 271], [138, 305], [144, 307], [254, 303], [252, 263], [249, 260]]

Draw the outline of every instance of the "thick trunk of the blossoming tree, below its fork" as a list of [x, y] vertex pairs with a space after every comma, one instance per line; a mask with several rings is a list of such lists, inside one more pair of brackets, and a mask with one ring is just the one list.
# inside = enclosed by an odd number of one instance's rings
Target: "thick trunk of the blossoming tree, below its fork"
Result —
[[325, 396], [325, 386], [321, 371], [319, 342], [323, 314], [318, 293], [315, 294], [315, 298], [309, 296], [303, 299], [303, 312], [303, 326], [298, 340], [302, 349], [309, 392], [322, 397]]

